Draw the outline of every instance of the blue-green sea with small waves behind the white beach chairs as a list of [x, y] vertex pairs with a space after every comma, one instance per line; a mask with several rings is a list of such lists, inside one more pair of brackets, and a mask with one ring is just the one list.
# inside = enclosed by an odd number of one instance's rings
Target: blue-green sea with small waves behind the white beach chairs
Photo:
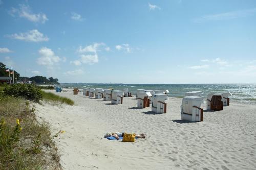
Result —
[[62, 88], [103, 88], [123, 90], [129, 88], [132, 94], [137, 89], [145, 90], [169, 90], [168, 96], [183, 98], [185, 92], [202, 91], [206, 97], [209, 93], [230, 92], [230, 100], [256, 104], [256, 84], [93, 84], [93, 83], [63, 83]]

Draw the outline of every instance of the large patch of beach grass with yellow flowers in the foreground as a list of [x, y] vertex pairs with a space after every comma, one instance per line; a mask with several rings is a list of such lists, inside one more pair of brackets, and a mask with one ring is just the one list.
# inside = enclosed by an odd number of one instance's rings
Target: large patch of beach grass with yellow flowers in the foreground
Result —
[[49, 124], [22, 98], [0, 95], [0, 169], [61, 169]]

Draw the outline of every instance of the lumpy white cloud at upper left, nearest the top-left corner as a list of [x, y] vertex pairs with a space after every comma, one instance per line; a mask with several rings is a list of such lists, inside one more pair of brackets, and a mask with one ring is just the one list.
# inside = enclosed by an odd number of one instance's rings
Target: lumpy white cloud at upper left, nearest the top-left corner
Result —
[[16, 16], [16, 14], [17, 14], [19, 17], [26, 18], [32, 22], [45, 23], [48, 20], [46, 14], [44, 14], [44, 13], [34, 14], [31, 12], [30, 7], [27, 5], [24, 5], [24, 4], [20, 4], [19, 9], [12, 8], [9, 11], [9, 13], [12, 16]]

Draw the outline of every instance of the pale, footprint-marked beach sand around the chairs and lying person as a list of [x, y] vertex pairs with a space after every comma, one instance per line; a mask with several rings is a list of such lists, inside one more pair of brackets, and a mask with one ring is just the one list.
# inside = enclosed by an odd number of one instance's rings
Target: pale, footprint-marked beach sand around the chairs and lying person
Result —
[[[82, 92], [56, 93], [74, 106], [35, 104], [38, 119], [51, 124], [63, 169], [256, 169], [256, 105], [230, 103], [223, 111], [204, 110], [203, 122], [180, 119], [181, 99], [167, 100], [167, 113], [90, 99]], [[206, 105], [203, 105], [206, 109]], [[106, 132], [145, 133], [145, 139], [119, 142]]]

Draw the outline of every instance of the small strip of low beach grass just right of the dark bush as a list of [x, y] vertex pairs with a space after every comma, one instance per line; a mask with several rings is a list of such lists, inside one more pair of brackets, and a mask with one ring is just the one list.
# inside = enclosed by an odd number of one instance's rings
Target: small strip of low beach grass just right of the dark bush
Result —
[[59, 95], [53, 94], [52, 92], [42, 92], [42, 96], [43, 96], [43, 100], [45, 101], [51, 101], [51, 102], [60, 102], [61, 104], [65, 103], [68, 105], [73, 106], [74, 105], [74, 101], [72, 101], [69, 98], [65, 98], [65, 97], [61, 97]]

